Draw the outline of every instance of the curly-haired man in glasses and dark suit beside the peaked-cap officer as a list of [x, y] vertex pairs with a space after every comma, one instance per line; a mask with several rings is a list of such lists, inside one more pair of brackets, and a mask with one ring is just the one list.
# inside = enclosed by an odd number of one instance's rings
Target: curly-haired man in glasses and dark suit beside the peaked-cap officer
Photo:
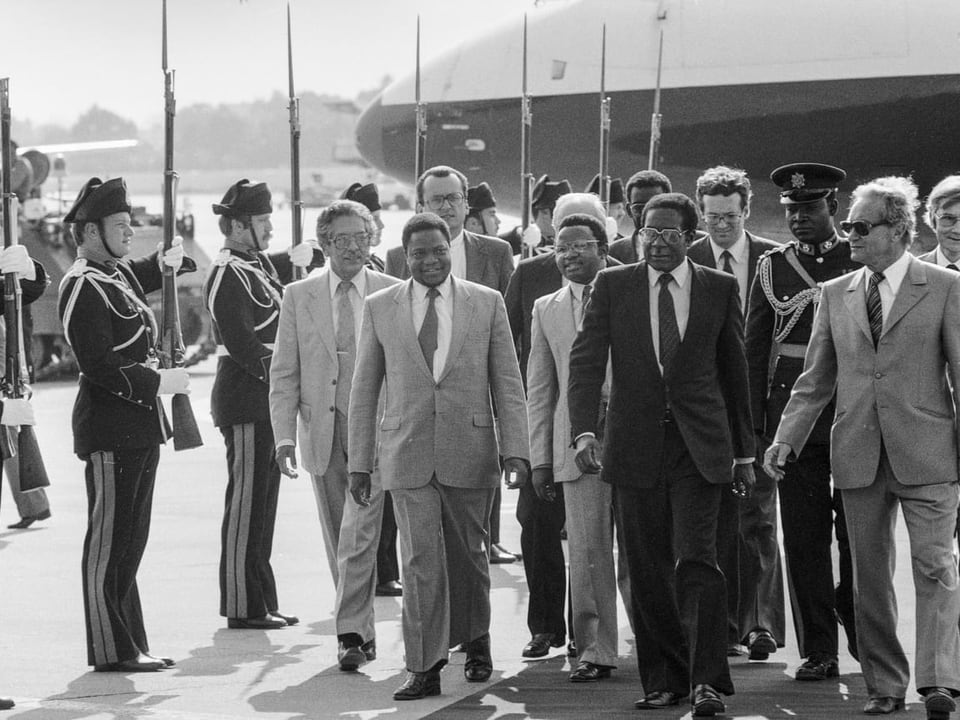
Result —
[[[698, 265], [723, 270], [737, 279], [740, 307], [757, 261], [777, 243], [746, 231], [750, 217], [750, 179], [743, 170], [709, 168], [697, 178], [697, 203], [709, 235], [696, 240], [687, 257]], [[783, 575], [777, 543], [777, 484], [762, 471], [749, 497], [724, 493], [720, 508], [718, 553], [727, 578], [727, 652], [748, 647], [751, 660], [766, 660], [783, 647], [785, 621]]]

